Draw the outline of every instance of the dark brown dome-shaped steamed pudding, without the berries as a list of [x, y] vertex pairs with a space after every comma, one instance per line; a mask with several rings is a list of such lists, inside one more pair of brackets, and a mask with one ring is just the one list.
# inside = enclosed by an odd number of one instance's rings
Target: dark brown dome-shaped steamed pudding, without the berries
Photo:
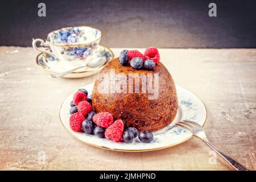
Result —
[[[127, 93], [102, 93], [98, 92], [98, 85], [102, 83], [104, 78], [99, 76], [94, 82], [92, 105], [93, 110], [97, 113], [109, 112], [113, 114], [114, 119], [122, 119], [125, 127], [136, 127], [139, 131], [148, 130], [155, 131], [162, 129], [170, 124], [177, 113], [177, 94], [172, 80], [172, 76], [162, 63], [159, 63], [154, 71], [145, 69], [133, 69], [130, 65], [123, 66], [119, 64], [118, 58], [110, 61], [100, 73], [109, 74], [110, 71], [115, 74], [123, 73], [127, 77]], [[149, 93], [142, 93], [142, 78], [139, 76], [139, 93], [130, 93], [129, 90], [129, 74], [153, 75], [151, 84], [154, 84], [154, 73], [158, 73], [159, 86], [158, 97], [150, 99]], [[100, 74], [101, 75], [101, 74]], [[110, 76], [110, 81], [113, 77]], [[105, 84], [105, 86], [108, 86]], [[132, 85], [135, 90], [135, 81]], [[128, 93], [129, 92], [129, 93]], [[156, 92], [156, 89], [155, 89]]]

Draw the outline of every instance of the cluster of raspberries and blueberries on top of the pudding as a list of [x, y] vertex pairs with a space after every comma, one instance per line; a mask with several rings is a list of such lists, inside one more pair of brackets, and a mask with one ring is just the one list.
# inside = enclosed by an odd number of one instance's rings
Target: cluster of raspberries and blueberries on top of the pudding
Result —
[[148, 47], [144, 52], [144, 55], [137, 50], [123, 50], [119, 56], [119, 63], [121, 65], [128, 65], [134, 69], [155, 69], [155, 65], [160, 61], [158, 49], [155, 47]]

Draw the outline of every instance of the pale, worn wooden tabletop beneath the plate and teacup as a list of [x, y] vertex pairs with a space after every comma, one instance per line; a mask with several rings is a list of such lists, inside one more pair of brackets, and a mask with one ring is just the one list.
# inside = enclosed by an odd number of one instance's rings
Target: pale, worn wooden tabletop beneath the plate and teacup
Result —
[[[113, 48], [118, 56], [119, 48]], [[28, 47], [0, 47], [0, 169], [233, 170], [200, 139], [159, 151], [117, 152], [89, 146], [61, 125], [61, 102], [86, 78], [51, 78]], [[220, 150], [256, 169], [256, 49], [160, 49], [176, 84], [201, 98], [204, 129]], [[42, 162], [43, 156], [46, 162]], [[43, 156], [42, 156], [43, 155]], [[214, 155], [213, 155], [214, 156]]]

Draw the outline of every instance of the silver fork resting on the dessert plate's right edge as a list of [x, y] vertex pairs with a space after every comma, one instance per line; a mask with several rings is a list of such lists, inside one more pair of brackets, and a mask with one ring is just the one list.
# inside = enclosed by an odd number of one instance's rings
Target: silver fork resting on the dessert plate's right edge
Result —
[[195, 135], [196, 137], [202, 139], [212, 150], [216, 151], [218, 155], [222, 156], [229, 164], [231, 164], [237, 171], [249, 171], [246, 167], [243, 167], [242, 164], [236, 162], [229, 156], [223, 154], [220, 150], [218, 150], [212, 143], [209, 142], [207, 136], [205, 135], [203, 127], [201, 127], [198, 123], [193, 121], [182, 121], [176, 123], [177, 126], [183, 127], [188, 130], [190, 133]]

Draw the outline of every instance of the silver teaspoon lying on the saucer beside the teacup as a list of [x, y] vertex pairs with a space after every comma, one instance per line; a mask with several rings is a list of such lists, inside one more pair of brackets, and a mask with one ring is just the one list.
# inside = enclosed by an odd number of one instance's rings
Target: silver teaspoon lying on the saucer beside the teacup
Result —
[[[93, 60], [95, 62], [98, 62], [96, 64], [90, 64], [90, 61]], [[102, 67], [108, 60], [105, 57], [99, 57], [98, 60], [96, 61], [95, 59], [91, 59], [85, 63], [85, 65], [76, 67], [73, 69], [69, 69], [68, 71], [62, 72], [62, 73], [53, 73], [51, 74], [51, 77], [53, 78], [61, 78], [64, 77], [65, 75], [68, 75], [69, 73], [72, 73], [73, 71], [76, 71], [77, 69], [85, 68], [83, 71], [95, 71], [96, 69]], [[90, 64], [92, 67], [88, 67], [87, 64]]]

